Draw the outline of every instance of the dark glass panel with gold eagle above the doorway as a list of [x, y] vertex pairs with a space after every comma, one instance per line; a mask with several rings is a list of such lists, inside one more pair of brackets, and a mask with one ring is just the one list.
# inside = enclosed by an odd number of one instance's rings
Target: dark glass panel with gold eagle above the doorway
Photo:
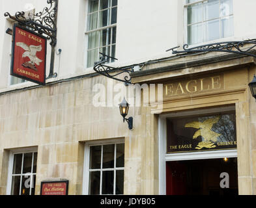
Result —
[[167, 153], [236, 149], [235, 112], [167, 119]]

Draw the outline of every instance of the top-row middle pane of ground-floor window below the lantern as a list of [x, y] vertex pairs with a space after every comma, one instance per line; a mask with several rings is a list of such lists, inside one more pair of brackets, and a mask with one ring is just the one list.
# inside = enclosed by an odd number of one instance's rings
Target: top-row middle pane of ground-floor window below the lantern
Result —
[[114, 157], [115, 157], [115, 144], [104, 145], [102, 168], [113, 168]]

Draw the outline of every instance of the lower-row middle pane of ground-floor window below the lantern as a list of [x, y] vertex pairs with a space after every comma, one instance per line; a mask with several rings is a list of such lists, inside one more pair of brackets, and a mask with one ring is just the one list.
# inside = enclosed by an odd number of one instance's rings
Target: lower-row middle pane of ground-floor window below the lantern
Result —
[[103, 171], [102, 172], [102, 194], [113, 194], [114, 184], [114, 172], [113, 171]]

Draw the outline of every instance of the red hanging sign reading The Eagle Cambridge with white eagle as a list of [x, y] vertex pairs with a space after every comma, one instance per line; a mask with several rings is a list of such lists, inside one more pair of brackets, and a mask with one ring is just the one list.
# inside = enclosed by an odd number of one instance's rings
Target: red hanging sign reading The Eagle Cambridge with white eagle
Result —
[[14, 25], [10, 75], [45, 85], [47, 38]]

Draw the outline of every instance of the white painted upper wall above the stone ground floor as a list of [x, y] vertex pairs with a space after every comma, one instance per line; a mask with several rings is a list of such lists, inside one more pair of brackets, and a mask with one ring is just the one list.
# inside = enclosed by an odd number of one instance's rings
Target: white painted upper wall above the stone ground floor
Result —
[[[0, 0], [0, 92], [14, 88], [8, 86], [10, 73], [11, 37], [5, 34], [10, 22], [4, 12], [25, 10], [32, 4], [36, 12], [48, 6], [46, 0]], [[183, 0], [119, 0], [117, 14], [117, 46], [113, 66], [126, 66], [152, 59], [171, 56], [166, 49], [183, 45], [184, 42], [184, 7]], [[234, 31], [231, 38], [242, 40], [256, 38], [255, 0], [233, 0]], [[85, 25], [87, 22], [87, 0], [59, 1], [57, 46], [61, 55], [55, 56], [56, 79], [75, 77], [94, 72], [85, 68], [84, 57]], [[218, 40], [216, 40], [218, 42]], [[47, 75], [50, 68], [50, 45], [48, 44]], [[33, 85], [30, 82], [20, 86]], [[20, 87], [15, 86], [15, 87]]]

